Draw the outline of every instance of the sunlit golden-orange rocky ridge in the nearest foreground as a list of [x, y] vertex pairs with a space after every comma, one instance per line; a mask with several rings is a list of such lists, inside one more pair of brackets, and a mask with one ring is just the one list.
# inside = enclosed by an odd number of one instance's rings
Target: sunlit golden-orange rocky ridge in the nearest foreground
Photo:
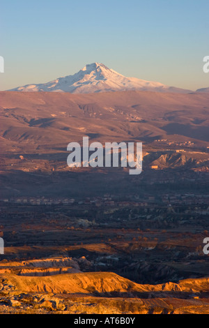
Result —
[[1, 313], [209, 313], [208, 278], [140, 285], [111, 272], [0, 275]]

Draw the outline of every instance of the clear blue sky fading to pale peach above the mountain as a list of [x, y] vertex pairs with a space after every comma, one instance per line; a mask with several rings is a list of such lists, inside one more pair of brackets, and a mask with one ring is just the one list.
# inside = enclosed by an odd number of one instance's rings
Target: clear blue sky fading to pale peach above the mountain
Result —
[[1, 1], [0, 90], [44, 83], [94, 61], [123, 75], [209, 87], [208, 0]]

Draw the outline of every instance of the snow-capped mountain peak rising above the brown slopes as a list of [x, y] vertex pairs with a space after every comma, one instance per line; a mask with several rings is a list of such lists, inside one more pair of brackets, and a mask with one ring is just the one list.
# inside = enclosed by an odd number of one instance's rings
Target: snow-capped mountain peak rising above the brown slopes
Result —
[[185, 89], [168, 87], [160, 82], [140, 80], [136, 77], [125, 77], [104, 64], [88, 64], [74, 75], [59, 77], [43, 84], [27, 84], [10, 91], [50, 91], [70, 92], [72, 94], [89, 94], [107, 91], [159, 91], [159, 92], [190, 92]]

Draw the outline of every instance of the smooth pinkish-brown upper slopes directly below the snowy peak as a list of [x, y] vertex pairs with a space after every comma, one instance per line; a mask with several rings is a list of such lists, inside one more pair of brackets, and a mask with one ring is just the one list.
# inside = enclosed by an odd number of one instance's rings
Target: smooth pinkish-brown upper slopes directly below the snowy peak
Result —
[[1, 142], [13, 147], [100, 142], [152, 141], [171, 135], [208, 141], [208, 94], [123, 91], [102, 94], [1, 92]]

